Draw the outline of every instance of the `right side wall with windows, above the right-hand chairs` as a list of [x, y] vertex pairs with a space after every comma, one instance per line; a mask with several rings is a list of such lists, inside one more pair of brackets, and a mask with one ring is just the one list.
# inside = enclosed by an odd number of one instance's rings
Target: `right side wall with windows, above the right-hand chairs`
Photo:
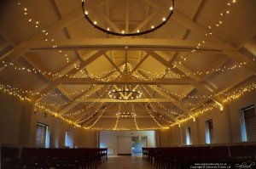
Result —
[[246, 93], [241, 98], [224, 105], [224, 110], [218, 108], [196, 117], [196, 120], [183, 122], [181, 127], [171, 127], [168, 131], [160, 132], [160, 146], [181, 146], [186, 144], [186, 128], [191, 128], [192, 144], [206, 144], [205, 121], [213, 120], [216, 144], [231, 144], [241, 142], [239, 113], [242, 108], [256, 105], [256, 91]]

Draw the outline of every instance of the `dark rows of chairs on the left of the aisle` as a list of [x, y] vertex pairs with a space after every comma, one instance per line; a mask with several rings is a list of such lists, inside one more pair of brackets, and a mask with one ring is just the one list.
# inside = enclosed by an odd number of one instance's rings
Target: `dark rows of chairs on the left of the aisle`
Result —
[[102, 161], [108, 160], [108, 149], [44, 149], [2, 147], [1, 161], [3, 168], [12, 169], [96, 169]]

